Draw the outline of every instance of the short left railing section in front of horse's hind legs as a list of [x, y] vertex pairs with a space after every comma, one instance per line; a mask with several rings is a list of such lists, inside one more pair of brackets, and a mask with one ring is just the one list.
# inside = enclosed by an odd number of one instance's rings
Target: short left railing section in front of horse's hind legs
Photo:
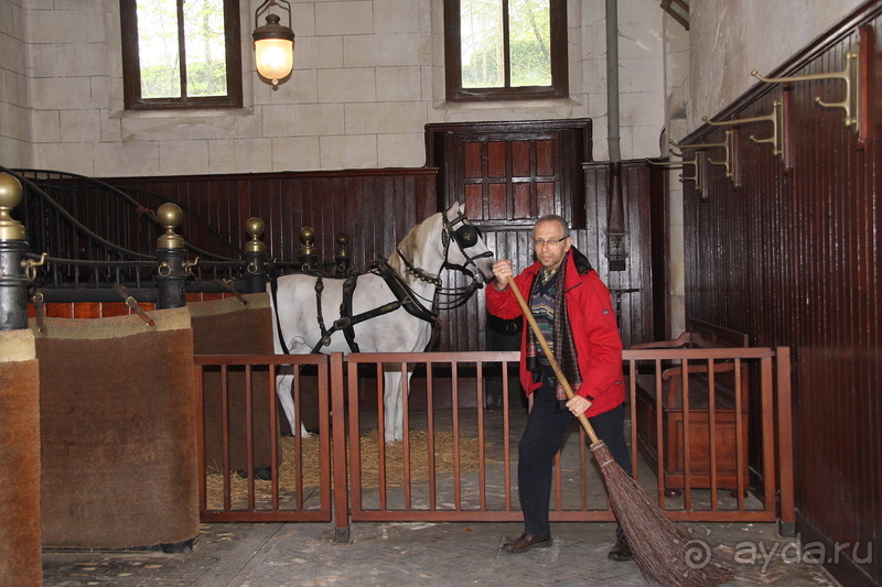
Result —
[[[298, 413], [304, 398], [315, 401], [315, 435], [279, 433], [276, 376], [284, 369]], [[329, 384], [325, 355], [195, 358], [201, 520], [332, 519]]]

